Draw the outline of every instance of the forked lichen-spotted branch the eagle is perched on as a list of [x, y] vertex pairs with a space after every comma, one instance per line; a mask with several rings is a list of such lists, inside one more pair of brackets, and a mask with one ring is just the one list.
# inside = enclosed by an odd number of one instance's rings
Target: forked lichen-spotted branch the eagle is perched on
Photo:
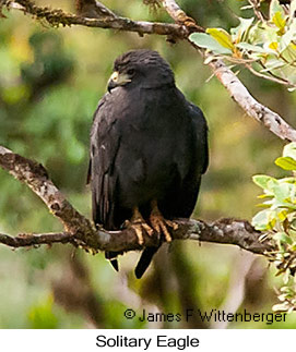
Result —
[[[57, 242], [71, 243], [93, 253], [98, 251], [127, 252], [157, 245], [156, 236], [150, 235], [144, 235], [144, 244], [139, 245], [137, 233], [132, 227], [122, 231], [109, 232], [104, 229], [95, 229], [91, 221], [64, 198], [40, 163], [0, 146], [0, 167], [29, 186], [44, 201], [50, 213], [62, 222], [64, 228], [64, 232], [58, 233], [21, 233], [16, 236], [0, 233], [0, 243], [11, 247]], [[275, 248], [272, 240], [261, 241], [262, 234], [245, 220], [222, 219], [206, 223], [202, 220], [176, 219], [176, 222], [178, 229], [171, 232], [174, 240], [236, 244], [256, 254], [264, 254]]]

